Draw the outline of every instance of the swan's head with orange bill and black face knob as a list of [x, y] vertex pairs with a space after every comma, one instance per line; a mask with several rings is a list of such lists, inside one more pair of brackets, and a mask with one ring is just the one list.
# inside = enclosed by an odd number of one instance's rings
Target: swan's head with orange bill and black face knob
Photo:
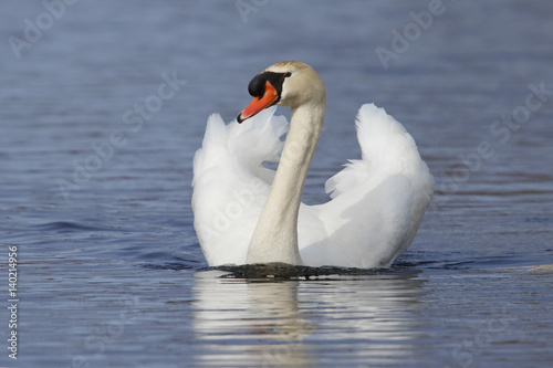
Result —
[[298, 108], [301, 105], [326, 104], [323, 81], [313, 67], [298, 61], [269, 66], [251, 80], [248, 92], [253, 101], [238, 114], [238, 123], [272, 105]]

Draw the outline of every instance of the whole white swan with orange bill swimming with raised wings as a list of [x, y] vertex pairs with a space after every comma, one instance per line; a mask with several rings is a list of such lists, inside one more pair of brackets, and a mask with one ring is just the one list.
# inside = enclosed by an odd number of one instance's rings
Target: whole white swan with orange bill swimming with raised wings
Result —
[[[434, 178], [411, 136], [384, 109], [363, 105], [362, 159], [326, 181], [332, 200], [306, 206], [301, 196], [326, 108], [323, 82], [311, 66], [289, 61], [258, 74], [248, 90], [254, 98], [237, 122], [209, 117], [194, 158], [194, 225], [209, 265], [388, 267], [411, 243], [432, 196]], [[273, 116], [275, 107], [263, 111], [272, 105], [292, 109], [285, 143], [286, 119]], [[281, 151], [276, 171], [263, 166]]]

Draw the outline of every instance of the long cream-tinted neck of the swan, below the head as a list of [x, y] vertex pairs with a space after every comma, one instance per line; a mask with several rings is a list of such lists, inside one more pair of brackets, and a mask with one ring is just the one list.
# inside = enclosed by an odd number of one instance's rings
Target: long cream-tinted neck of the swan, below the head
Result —
[[253, 231], [247, 263], [303, 264], [298, 248], [298, 214], [325, 108], [324, 102], [292, 108], [279, 168]]

